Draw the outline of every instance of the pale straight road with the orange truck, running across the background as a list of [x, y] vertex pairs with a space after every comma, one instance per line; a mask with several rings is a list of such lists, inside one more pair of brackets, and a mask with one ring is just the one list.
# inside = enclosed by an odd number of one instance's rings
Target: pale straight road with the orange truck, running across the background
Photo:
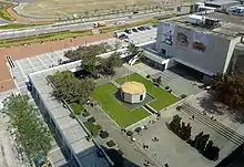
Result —
[[[114, 25], [118, 21], [124, 20], [128, 22], [138, 22], [143, 20], [150, 20], [154, 17], [171, 14], [174, 11], [164, 11], [161, 13], [149, 13], [149, 14], [141, 14], [141, 15], [133, 15], [131, 19], [126, 18], [118, 18], [118, 19], [110, 19], [103, 20], [109, 25]], [[14, 39], [14, 38], [22, 38], [29, 35], [39, 35], [44, 33], [52, 33], [52, 32], [60, 32], [60, 31], [75, 31], [75, 30], [85, 30], [92, 29], [94, 22], [85, 22], [85, 23], [75, 23], [75, 24], [67, 24], [67, 25], [44, 25], [44, 27], [35, 27], [35, 28], [28, 28], [22, 30], [2, 30], [0, 33], [0, 40], [4, 39]]]

